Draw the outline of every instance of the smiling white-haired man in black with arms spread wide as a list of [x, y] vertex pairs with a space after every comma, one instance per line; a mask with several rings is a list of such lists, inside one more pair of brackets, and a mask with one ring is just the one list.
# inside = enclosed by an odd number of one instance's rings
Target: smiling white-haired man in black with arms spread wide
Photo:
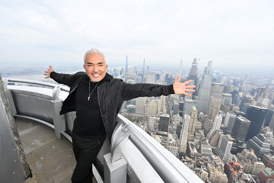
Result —
[[185, 86], [191, 80], [173, 85], [128, 84], [120, 79], [113, 79], [106, 73], [108, 65], [102, 52], [95, 48], [84, 55], [84, 69], [74, 75], [56, 73], [50, 65], [45, 71], [45, 78], [52, 78], [60, 84], [70, 86], [70, 93], [63, 102], [60, 115], [76, 111], [72, 130], [72, 146], [76, 158], [76, 167], [72, 182], [92, 182], [92, 163], [99, 153], [105, 138], [110, 145], [115, 119], [124, 101], [137, 97], [152, 97], [170, 94], [194, 92]]

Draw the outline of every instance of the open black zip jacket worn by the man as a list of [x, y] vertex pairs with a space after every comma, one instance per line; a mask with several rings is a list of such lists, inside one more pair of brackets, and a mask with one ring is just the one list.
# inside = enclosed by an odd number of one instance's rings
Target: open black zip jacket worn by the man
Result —
[[[106, 75], [111, 77], [108, 73]], [[85, 72], [78, 72], [74, 75], [56, 73], [54, 71], [50, 73], [50, 78], [57, 83], [70, 87], [70, 93], [63, 102], [60, 115], [76, 110], [76, 94], [74, 91], [84, 77], [86, 77]], [[116, 126], [115, 120], [124, 101], [137, 97], [167, 96], [174, 94], [174, 90], [173, 85], [128, 84], [121, 79], [111, 79], [100, 83], [97, 93], [102, 119], [110, 143], [113, 130]]]

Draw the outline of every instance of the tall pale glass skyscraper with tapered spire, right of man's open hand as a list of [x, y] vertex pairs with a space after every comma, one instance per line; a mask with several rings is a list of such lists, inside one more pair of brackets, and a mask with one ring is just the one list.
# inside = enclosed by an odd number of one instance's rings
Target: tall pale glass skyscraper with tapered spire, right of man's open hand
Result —
[[198, 98], [197, 98], [197, 110], [198, 113], [203, 112], [204, 114], [207, 113], [210, 89], [211, 89], [211, 82], [213, 77], [213, 71], [211, 70], [212, 61], [208, 62], [207, 67], [204, 68], [204, 73], [202, 76]]

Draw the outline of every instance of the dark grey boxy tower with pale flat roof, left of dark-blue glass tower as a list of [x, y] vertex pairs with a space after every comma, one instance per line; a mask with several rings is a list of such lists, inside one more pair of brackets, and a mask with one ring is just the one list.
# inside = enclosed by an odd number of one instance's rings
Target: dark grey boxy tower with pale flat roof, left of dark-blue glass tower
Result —
[[250, 123], [251, 122], [248, 119], [242, 116], [236, 117], [234, 126], [232, 128], [231, 136], [233, 136], [237, 141], [244, 142], [247, 136]]

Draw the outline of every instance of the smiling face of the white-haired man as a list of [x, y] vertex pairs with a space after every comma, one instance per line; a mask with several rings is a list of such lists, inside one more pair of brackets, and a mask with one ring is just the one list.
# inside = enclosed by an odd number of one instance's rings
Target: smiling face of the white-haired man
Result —
[[108, 65], [100, 53], [89, 53], [86, 56], [84, 69], [91, 82], [98, 82], [105, 77]]

